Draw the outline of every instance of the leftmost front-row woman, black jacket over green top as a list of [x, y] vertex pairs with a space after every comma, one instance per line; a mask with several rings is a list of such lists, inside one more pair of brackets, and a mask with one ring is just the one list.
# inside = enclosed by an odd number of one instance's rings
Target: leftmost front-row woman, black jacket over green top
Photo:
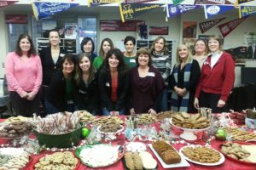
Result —
[[75, 64], [75, 55], [65, 55], [61, 64], [62, 68], [52, 77], [47, 89], [50, 113], [75, 110], [73, 102]]

